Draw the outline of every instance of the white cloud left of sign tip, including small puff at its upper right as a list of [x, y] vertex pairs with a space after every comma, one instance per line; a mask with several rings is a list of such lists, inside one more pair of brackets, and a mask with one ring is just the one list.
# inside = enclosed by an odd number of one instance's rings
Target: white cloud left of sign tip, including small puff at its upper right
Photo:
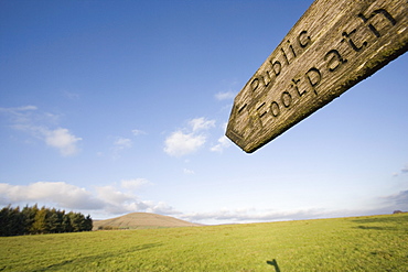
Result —
[[183, 156], [196, 152], [206, 142], [206, 130], [215, 127], [215, 120], [203, 117], [189, 121], [189, 127], [172, 132], [164, 141], [164, 152], [171, 156]]

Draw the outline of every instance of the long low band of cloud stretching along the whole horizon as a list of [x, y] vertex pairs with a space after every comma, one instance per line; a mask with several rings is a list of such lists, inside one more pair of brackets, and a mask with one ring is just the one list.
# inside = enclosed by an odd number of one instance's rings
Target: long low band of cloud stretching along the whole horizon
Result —
[[[121, 182], [121, 188], [138, 188], [149, 183], [144, 178]], [[98, 186], [88, 191], [64, 182], [36, 182], [29, 185], [0, 183], [0, 205], [50, 206], [61, 209], [82, 210], [114, 217], [120, 214], [147, 211], [161, 215], [176, 215], [178, 218], [204, 224], [260, 222], [277, 220], [312, 219], [345, 216], [379, 215], [395, 209], [408, 210], [408, 191], [383, 197], [383, 206], [373, 209], [330, 210], [325, 208], [278, 209], [218, 209], [182, 214], [163, 202], [141, 200], [129, 191], [115, 185]]]

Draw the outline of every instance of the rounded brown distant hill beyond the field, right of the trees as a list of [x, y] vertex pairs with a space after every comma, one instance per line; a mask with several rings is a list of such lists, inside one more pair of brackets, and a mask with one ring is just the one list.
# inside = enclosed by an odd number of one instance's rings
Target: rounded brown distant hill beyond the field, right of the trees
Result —
[[149, 229], [195, 227], [198, 224], [187, 222], [170, 216], [149, 213], [132, 213], [106, 220], [94, 220], [93, 230], [97, 229]]

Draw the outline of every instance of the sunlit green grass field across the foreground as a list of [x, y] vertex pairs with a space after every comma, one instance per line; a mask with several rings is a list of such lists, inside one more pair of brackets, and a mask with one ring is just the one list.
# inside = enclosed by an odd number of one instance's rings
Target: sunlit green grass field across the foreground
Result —
[[0, 238], [0, 271], [408, 271], [408, 214]]

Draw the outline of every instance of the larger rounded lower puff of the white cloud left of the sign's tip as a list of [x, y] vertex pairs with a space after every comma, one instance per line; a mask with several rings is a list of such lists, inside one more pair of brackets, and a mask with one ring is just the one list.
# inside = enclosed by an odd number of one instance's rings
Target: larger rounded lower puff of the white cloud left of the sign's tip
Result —
[[205, 135], [194, 133], [173, 132], [165, 139], [164, 152], [171, 156], [183, 156], [197, 151], [205, 143]]

